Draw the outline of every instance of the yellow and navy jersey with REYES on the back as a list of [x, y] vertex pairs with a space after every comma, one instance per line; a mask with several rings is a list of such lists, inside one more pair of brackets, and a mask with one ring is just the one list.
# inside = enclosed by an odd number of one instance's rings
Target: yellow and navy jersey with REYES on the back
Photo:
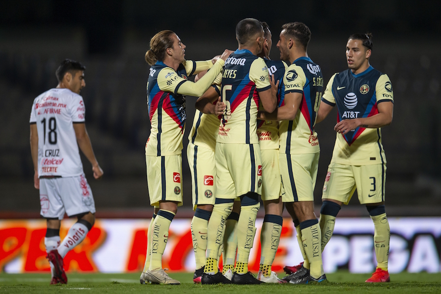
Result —
[[225, 61], [221, 98], [226, 104], [217, 142], [258, 144], [259, 94], [271, 88], [265, 61], [246, 49], [234, 51]]

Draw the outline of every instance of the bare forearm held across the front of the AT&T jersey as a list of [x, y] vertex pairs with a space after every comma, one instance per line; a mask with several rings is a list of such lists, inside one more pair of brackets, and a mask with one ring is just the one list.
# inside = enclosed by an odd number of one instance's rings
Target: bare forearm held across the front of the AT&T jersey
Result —
[[368, 118], [343, 120], [334, 126], [334, 130], [346, 135], [348, 132], [355, 130], [359, 126], [365, 128], [379, 128], [391, 124], [393, 116], [392, 101], [381, 102], [377, 104], [377, 108], [378, 114]]

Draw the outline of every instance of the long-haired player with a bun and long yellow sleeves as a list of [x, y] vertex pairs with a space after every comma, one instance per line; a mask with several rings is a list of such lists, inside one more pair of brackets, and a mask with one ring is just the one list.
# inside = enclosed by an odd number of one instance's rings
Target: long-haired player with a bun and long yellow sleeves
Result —
[[[150, 40], [146, 61], [151, 66], [147, 81], [150, 136], [146, 143], [147, 184], [150, 205], [156, 208], [147, 233], [147, 257], [141, 283], [180, 284], [162, 269], [162, 254], [170, 223], [182, 205], [182, 138], [185, 129], [185, 95], [201, 96], [221, 72], [231, 51], [212, 63], [185, 60], [186, 46], [171, 30]], [[196, 83], [187, 77], [210, 69]]]

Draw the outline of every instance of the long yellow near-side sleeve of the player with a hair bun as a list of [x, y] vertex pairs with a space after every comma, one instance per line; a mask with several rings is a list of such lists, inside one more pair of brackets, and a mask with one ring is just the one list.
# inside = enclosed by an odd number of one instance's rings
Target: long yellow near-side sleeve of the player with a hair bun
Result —
[[157, 77], [159, 89], [174, 94], [200, 97], [213, 84], [224, 64], [222, 59], [218, 59], [196, 83], [182, 78], [171, 68], [163, 68]]

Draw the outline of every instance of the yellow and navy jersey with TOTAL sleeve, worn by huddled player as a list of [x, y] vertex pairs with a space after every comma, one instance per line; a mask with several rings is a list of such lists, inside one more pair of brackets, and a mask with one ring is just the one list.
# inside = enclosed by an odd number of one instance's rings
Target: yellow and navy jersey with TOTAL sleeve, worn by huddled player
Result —
[[[303, 154], [320, 151], [314, 130], [323, 91], [323, 75], [317, 63], [309, 57], [300, 57], [288, 67], [283, 78], [285, 95], [303, 94], [294, 121], [281, 121], [279, 125], [280, 153]], [[282, 102], [284, 105], [284, 102]]]

